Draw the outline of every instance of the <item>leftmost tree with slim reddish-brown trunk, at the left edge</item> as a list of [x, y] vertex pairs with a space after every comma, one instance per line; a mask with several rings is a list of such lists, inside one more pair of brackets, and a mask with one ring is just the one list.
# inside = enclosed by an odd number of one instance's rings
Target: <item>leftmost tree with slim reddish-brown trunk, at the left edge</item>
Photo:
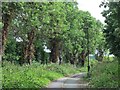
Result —
[[2, 53], [4, 53], [10, 23], [12, 18], [16, 15], [16, 8], [18, 8], [17, 3], [2, 3]]

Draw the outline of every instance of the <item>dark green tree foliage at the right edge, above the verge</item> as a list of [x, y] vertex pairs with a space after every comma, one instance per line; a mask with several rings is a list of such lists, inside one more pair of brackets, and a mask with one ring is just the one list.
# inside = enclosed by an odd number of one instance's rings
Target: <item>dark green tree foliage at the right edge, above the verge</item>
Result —
[[101, 4], [109, 8], [102, 12], [105, 20], [104, 34], [110, 52], [120, 57], [120, 2], [104, 2]]

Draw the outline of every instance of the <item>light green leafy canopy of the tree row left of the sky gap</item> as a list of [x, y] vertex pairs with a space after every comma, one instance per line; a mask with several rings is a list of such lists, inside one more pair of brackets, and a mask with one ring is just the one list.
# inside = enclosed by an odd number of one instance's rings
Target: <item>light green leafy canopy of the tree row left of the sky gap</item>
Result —
[[[46, 43], [49, 49], [54, 48], [54, 46], [51, 46], [50, 41], [53, 38], [58, 40], [57, 43], [61, 42], [60, 48], [63, 50], [64, 59], [73, 56], [73, 54], [77, 56], [83, 49], [86, 50], [86, 27], [89, 33], [91, 53], [94, 52], [96, 47], [103, 48], [104, 46], [102, 23], [93, 18], [89, 12], [79, 10], [76, 2], [4, 2], [2, 8], [4, 14], [12, 10], [11, 13], [14, 16], [14, 18], [11, 17], [12, 22], [9, 26], [6, 44], [6, 51], [9, 52], [5, 51], [6, 59], [11, 61], [12, 58], [9, 58], [11, 55], [14, 59], [14, 56], [23, 57], [23, 49], [30, 42], [28, 33], [31, 30], [35, 31], [32, 45], [35, 48], [33, 54], [36, 61], [41, 60], [41, 62], [44, 62], [42, 46]], [[16, 39], [18, 38], [22, 39], [19, 46], [16, 45], [18, 43]], [[17, 49], [17, 46], [19, 49]], [[72, 55], [69, 55], [69, 53]], [[70, 60], [70, 58], [65, 60]]]

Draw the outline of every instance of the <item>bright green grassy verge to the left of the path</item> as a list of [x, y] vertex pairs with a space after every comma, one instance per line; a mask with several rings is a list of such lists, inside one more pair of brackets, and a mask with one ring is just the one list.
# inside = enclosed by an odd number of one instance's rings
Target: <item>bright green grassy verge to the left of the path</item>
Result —
[[41, 65], [34, 63], [19, 66], [10, 62], [3, 62], [2, 70], [3, 88], [43, 88], [53, 80], [80, 72], [78, 68], [69, 64]]

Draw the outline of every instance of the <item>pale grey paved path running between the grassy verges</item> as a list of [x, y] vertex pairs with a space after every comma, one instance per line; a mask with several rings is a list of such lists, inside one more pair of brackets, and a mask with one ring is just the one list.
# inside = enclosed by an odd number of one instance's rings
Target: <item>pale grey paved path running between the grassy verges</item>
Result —
[[79, 73], [71, 77], [58, 79], [48, 85], [47, 88], [86, 88], [88, 83], [83, 80], [86, 73]]

